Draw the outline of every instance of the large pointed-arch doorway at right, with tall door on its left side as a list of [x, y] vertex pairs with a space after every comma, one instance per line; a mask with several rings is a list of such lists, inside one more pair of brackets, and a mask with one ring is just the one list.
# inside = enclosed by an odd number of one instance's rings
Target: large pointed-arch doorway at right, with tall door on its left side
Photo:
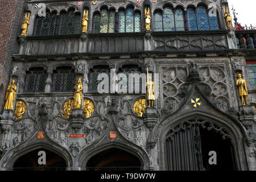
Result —
[[[168, 171], [234, 171], [231, 137], [222, 126], [193, 118], [171, 127], [166, 134], [164, 158]], [[210, 151], [217, 164], [210, 164]], [[211, 158], [212, 159], [212, 158]], [[211, 160], [212, 161], [212, 160]]]

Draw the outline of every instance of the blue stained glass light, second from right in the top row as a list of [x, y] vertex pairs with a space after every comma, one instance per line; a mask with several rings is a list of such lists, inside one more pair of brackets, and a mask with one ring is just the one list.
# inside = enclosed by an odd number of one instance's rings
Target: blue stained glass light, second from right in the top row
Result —
[[196, 9], [197, 26], [199, 30], [209, 30], [209, 22], [207, 11], [204, 7], [200, 6]]

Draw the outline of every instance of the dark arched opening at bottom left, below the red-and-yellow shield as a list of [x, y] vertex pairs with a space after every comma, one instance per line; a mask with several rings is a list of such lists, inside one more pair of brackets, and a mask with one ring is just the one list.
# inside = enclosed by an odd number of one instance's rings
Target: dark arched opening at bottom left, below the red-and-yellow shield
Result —
[[[46, 164], [39, 165], [39, 151], [46, 152]], [[52, 151], [40, 148], [20, 156], [13, 166], [14, 171], [65, 171], [67, 164], [65, 160]]]

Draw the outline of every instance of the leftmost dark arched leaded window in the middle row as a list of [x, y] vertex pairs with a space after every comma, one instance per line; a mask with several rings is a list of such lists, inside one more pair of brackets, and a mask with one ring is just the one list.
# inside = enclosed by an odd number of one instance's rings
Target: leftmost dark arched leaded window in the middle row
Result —
[[32, 68], [26, 76], [26, 93], [42, 93], [46, 82], [46, 71], [43, 68]]

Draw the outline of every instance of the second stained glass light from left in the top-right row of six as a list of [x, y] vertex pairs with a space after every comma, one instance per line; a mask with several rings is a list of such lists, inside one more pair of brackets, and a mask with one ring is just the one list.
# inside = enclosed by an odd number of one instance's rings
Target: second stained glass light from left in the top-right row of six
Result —
[[164, 31], [174, 31], [174, 13], [172, 9], [166, 7], [163, 11], [163, 30]]

